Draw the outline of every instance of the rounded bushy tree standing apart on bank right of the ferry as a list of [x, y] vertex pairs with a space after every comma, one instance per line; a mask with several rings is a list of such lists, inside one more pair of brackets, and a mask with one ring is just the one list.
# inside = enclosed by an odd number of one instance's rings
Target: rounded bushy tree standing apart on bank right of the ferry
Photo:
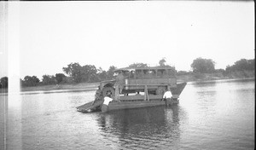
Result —
[[210, 73], [215, 70], [215, 62], [211, 59], [197, 58], [191, 64], [193, 72]]

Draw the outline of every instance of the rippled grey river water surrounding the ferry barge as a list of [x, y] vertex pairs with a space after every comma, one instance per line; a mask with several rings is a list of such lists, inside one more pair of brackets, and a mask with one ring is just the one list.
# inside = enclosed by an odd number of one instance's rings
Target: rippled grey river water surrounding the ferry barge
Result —
[[254, 149], [254, 85], [191, 82], [177, 106], [112, 113], [76, 111], [95, 90], [0, 95], [0, 149]]

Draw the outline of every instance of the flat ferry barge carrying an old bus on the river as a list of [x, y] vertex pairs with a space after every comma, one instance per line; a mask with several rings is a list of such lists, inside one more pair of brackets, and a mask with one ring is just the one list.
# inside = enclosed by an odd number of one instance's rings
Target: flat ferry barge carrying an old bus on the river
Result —
[[[177, 83], [174, 66], [125, 67], [115, 73], [116, 79], [100, 83], [95, 101], [77, 107], [79, 112], [174, 105], [187, 84]], [[172, 99], [166, 101], [163, 95], [167, 89], [171, 89]]]

